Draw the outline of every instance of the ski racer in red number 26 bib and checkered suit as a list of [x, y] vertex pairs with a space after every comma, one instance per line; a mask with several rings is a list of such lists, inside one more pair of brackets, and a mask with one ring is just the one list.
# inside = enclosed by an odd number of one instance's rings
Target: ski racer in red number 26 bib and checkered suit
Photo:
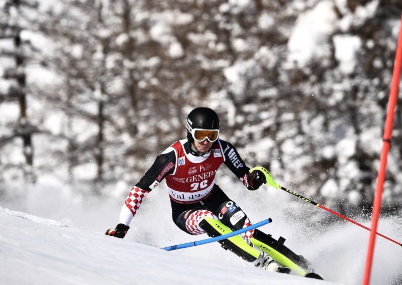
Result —
[[[168, 188], [173, 222], [186, 233], [216, 235], [211, 226], [205, 223], [204, 217], [220, 220], [233, 231], [251, 225], [247, 215], [215, 183], [215, 175], [224, 163], [248, 190], [257, 190], [266, 183], [264, 174], [259, 170], [250, 172], [235, 147], [219, 138], [219, 117], [214, 110], [206, 107], [193, 109], [187, 116], [185, 126], [186, 139], [176, 141], [156, 158], [151, 168], [131, 189], [123, 204], [119, 224], [116, 228], [107, 230], [105, 234], [124, 238], [144, 198], [163, 179], [166, 180]], [[240, 240], [247, 246], [235, 244], [227, 239], [220, 243], [225, 249], [254, 262], [257, 267], [289, 273], [289, 268], [275, 261], [266, 252], [252, 248], [251, 241], [255, 240], [252, 239], [253, 236], [258, 236], [265, 242], [264, 246], [268, 244], [275, 250], [283, 251], [286, 258], [306, 265], [304, 267], [307, 268], [307, 260], [286, 248], [283, 238], [276, 241], [257, 229], [242, 234], [243, 239]], [[318, 276], [311, 271], [306, 271], [307, 277]]]

